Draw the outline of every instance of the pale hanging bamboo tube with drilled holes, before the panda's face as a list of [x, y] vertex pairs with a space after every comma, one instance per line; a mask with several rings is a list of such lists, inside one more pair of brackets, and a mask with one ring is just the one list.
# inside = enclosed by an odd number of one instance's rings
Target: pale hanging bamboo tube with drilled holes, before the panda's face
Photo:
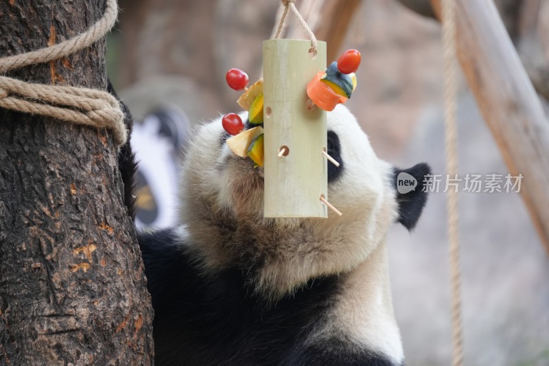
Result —
[[[263, 43], [265, 130], [265, 217], [326, 218], [326, 112], [308, 111], [307, 83], [326, 69], [326, 43], [307, 53], [309, 41], [272, 39]], [[288, 151], [278, 155], [285, 147]]]

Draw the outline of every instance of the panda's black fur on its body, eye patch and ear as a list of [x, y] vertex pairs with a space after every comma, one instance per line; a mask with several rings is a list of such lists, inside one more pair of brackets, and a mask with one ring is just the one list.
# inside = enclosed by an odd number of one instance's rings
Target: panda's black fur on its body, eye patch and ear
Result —
[[[130, 128], [127, 108], [126, 123]], [[338, 135], [330, 131], [327, 141], [329, 154], [341, 164], [340, 168], [328, 165], [329, 183], [336, 183], [342, 179], [345, 162]], [[119, 169], [128, 212], [133, 217], [136, 165], [129, 142], [120, 150]], [[423, 182], [430, 168], [419, 164], [405, 171]], [[395, 169], [395, 176], [399, 172]], [[416, 190], [396, 198], [397, 220], [412, 229], [426, 194]], [[194, 243], [181, 230], [138, 233], [154, 308], [156, 365], [404, 364], [402, 359], [395, 361], [391, 354], [371, 350], [337, 329], [323, 336], [320, 343], [310, 341], [314, 330], [329, 322], [329, 310], [342, 294], [347, 273], [309, 278], [295, 291], [272, 301], [258, 293], [250, 281], [254, 267], [235, 264], [220, 271], [205, 270]]]

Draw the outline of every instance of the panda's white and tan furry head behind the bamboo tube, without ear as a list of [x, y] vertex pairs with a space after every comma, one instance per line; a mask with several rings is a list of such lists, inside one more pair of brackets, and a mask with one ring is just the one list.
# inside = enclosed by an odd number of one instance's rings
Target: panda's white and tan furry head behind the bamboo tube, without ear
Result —
[[340, 162], [328, 163], [328, 199], [343, 214], [327, 219], [264, 218], [263, 169], [231, 152], [220, 119], [198, 130], [181, 212], [207, 267], [255, 266], [259, 287], [283, 293], [316, 275], [350, 271], [384, 241], [400, 220], [395, 168], [376, 157], [346, 107], [327, 113], [327, 128], [328, 153]]

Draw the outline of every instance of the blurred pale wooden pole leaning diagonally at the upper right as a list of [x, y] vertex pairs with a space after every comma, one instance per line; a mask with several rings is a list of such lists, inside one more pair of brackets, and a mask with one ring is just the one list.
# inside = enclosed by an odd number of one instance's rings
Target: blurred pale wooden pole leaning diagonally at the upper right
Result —
[[[440, 19], [441, 1], [430, 0]], [[549, 123], [493, 1], [456, 0], [457, 54], [549, 253]]]

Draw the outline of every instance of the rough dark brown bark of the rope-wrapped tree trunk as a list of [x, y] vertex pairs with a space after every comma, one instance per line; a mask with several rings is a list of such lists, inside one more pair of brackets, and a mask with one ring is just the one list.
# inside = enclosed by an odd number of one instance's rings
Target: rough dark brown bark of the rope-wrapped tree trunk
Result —
[[[104, 0], [0, 1], [0, 56], [84, 32]], [[106, 89], [105, 44], [11, 73]], [[0, 109], [0, 365], [148, 365], [152, 308], [106, 130]]]

